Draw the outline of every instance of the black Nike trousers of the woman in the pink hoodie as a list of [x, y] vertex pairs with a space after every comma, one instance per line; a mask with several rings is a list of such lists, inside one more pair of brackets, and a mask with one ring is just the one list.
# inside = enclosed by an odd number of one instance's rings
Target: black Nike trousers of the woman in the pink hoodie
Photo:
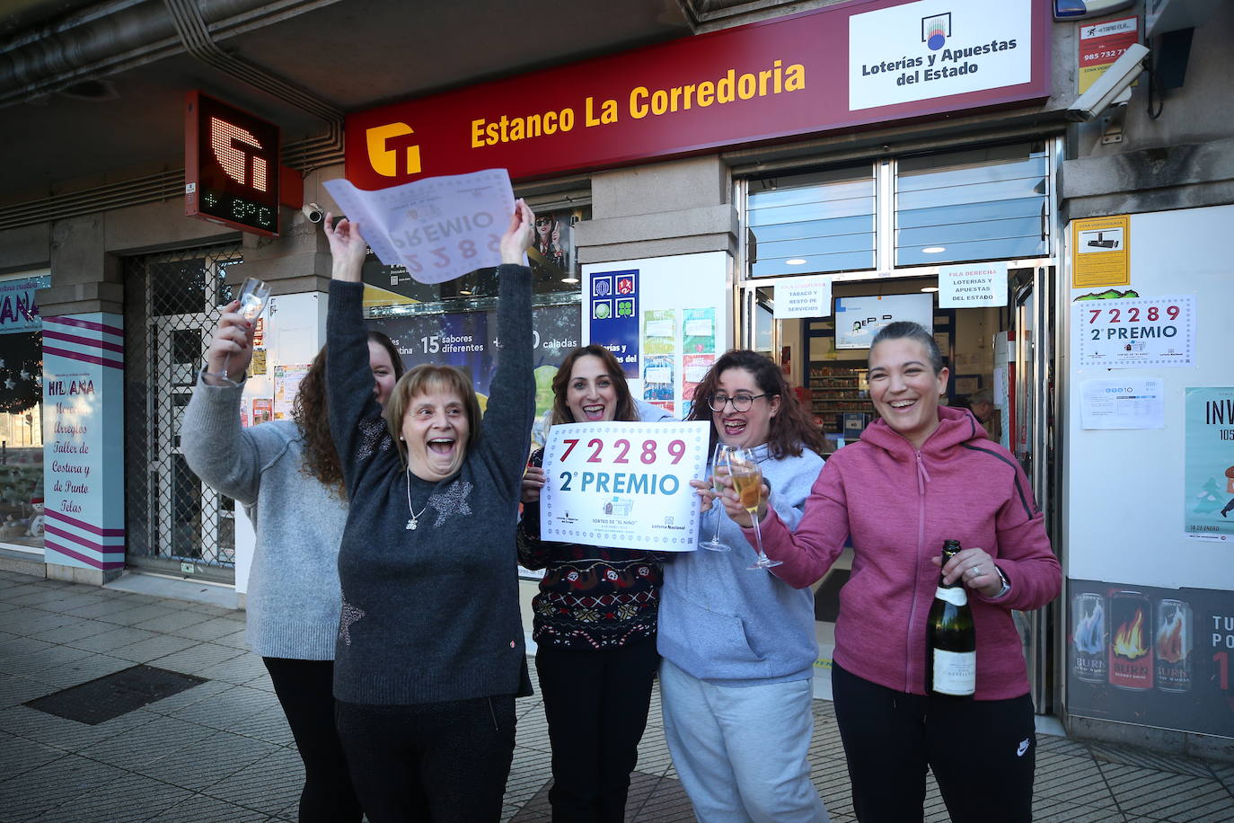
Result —
[[953, 823], [1030, 823], [1033, 701], [927, 697], [832, 665], [835, 722], [861, 823], [922, 821], [926, 767]]

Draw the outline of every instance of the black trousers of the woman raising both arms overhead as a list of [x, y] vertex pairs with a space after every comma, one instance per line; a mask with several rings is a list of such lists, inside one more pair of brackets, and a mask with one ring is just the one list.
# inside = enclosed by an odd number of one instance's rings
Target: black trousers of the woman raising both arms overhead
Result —
[[371, 823], [501, 818], [515, 756], [513, 695], [336, 707], [352, 782]]

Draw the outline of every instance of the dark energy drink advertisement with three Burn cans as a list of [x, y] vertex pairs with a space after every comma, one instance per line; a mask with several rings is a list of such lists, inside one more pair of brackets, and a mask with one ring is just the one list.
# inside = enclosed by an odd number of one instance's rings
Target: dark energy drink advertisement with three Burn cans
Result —
[[1071, 714], [1234, 737], [1234, 592], [1067, 586]]

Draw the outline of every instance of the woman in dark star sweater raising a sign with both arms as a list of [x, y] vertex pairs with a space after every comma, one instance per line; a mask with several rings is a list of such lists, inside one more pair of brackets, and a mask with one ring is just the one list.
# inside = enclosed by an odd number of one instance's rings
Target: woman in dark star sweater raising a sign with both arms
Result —
[[[420, 365], [385, 413], [358, 391], [364, 353], [358, 227], [333, 225], [329, 424], [350, 492], [338, 554], [338, 734], [374, 823], [496, 821], [531, 693], [510, 534], [534, 415], [522, 201], [500, 241], [501, 358], [482, 421], [470, 379]], [[506, 539], [501, 539], [505, 536]]]

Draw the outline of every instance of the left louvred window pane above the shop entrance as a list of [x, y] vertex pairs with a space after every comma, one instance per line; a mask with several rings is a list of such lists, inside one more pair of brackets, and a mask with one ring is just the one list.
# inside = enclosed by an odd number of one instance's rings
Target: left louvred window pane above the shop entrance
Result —
[[872, 269], [875, 205], [869, 165], [752, 180], [750, 276]]

